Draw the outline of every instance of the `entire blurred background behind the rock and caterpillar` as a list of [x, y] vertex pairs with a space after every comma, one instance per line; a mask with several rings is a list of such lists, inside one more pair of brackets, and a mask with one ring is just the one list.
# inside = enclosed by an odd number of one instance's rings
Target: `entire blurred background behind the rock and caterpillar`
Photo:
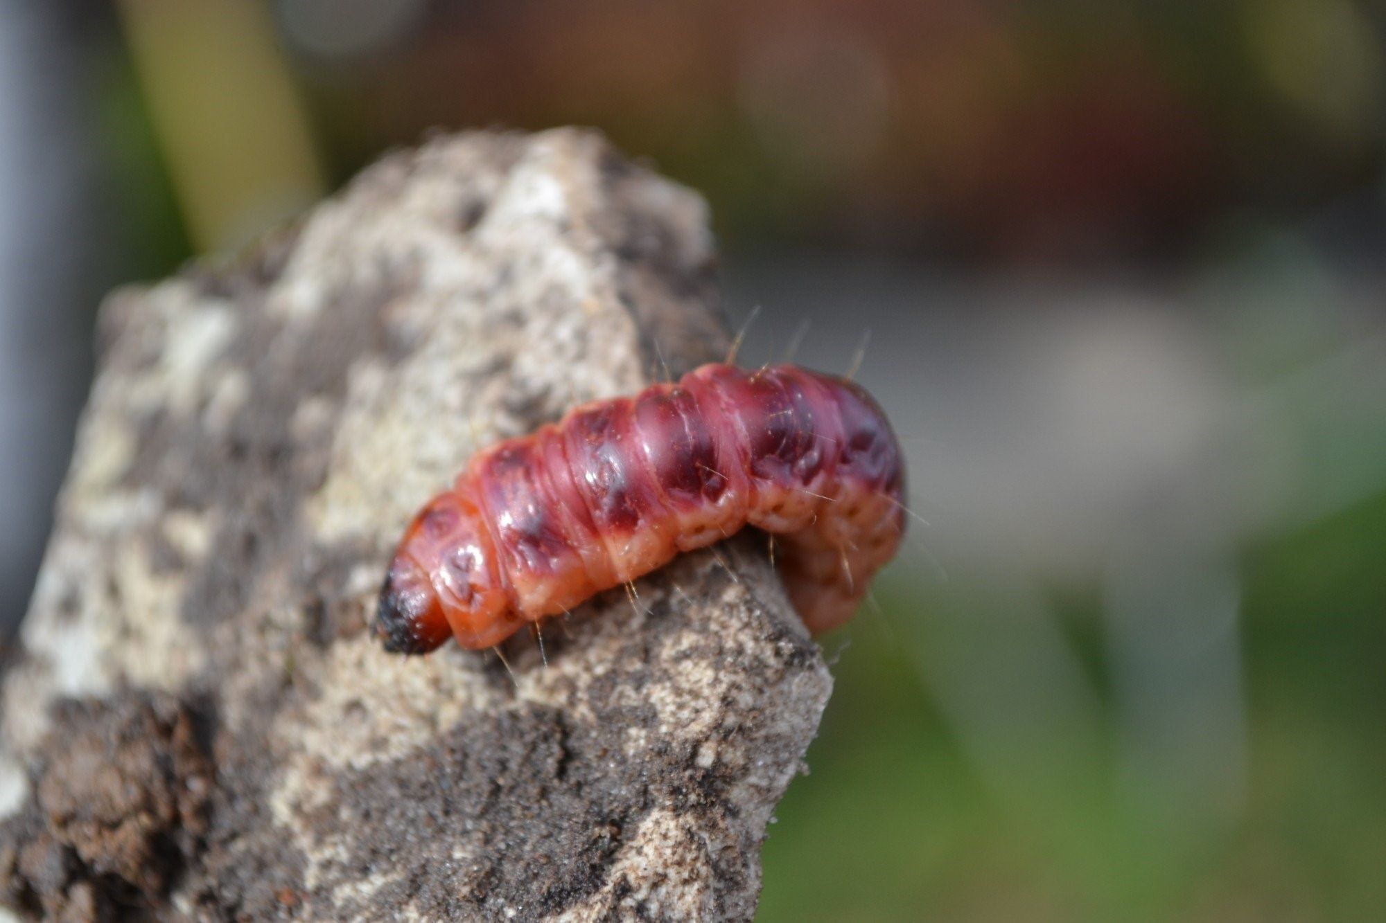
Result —
[[111, 285], [431, 126], [712, 205], [746, 362], [859, 378], [908, 550], [762, 920], [1386, 912], [1386, 42], [1367, 0], [0, 0], [0, 621]]

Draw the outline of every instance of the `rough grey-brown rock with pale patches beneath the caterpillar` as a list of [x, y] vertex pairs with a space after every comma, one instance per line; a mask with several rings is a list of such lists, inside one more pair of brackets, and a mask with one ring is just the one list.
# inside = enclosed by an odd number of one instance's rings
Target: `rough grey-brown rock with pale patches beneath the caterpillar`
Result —
[[468, 133], [112, 295], [4, 676], [0, 898], [750, 917], [830, 689], [754, 536], [543, 651], [517, 636], [509, 668], [367, 631], [402, 527], [475, 448], [725, 349], [711, 269], [701, 201], [600, 137]]

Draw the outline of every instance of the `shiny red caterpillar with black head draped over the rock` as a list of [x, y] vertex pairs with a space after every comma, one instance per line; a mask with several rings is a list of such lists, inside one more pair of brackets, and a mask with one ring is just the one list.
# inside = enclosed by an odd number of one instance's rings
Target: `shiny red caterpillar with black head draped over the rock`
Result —
[[405, 531], [376, 631], [389, 651], [491, 647], [755, 525], [825, 632], [895, 554], [902, 491], [900, 445], [858, 385], [707, 364], [477, 453]]

